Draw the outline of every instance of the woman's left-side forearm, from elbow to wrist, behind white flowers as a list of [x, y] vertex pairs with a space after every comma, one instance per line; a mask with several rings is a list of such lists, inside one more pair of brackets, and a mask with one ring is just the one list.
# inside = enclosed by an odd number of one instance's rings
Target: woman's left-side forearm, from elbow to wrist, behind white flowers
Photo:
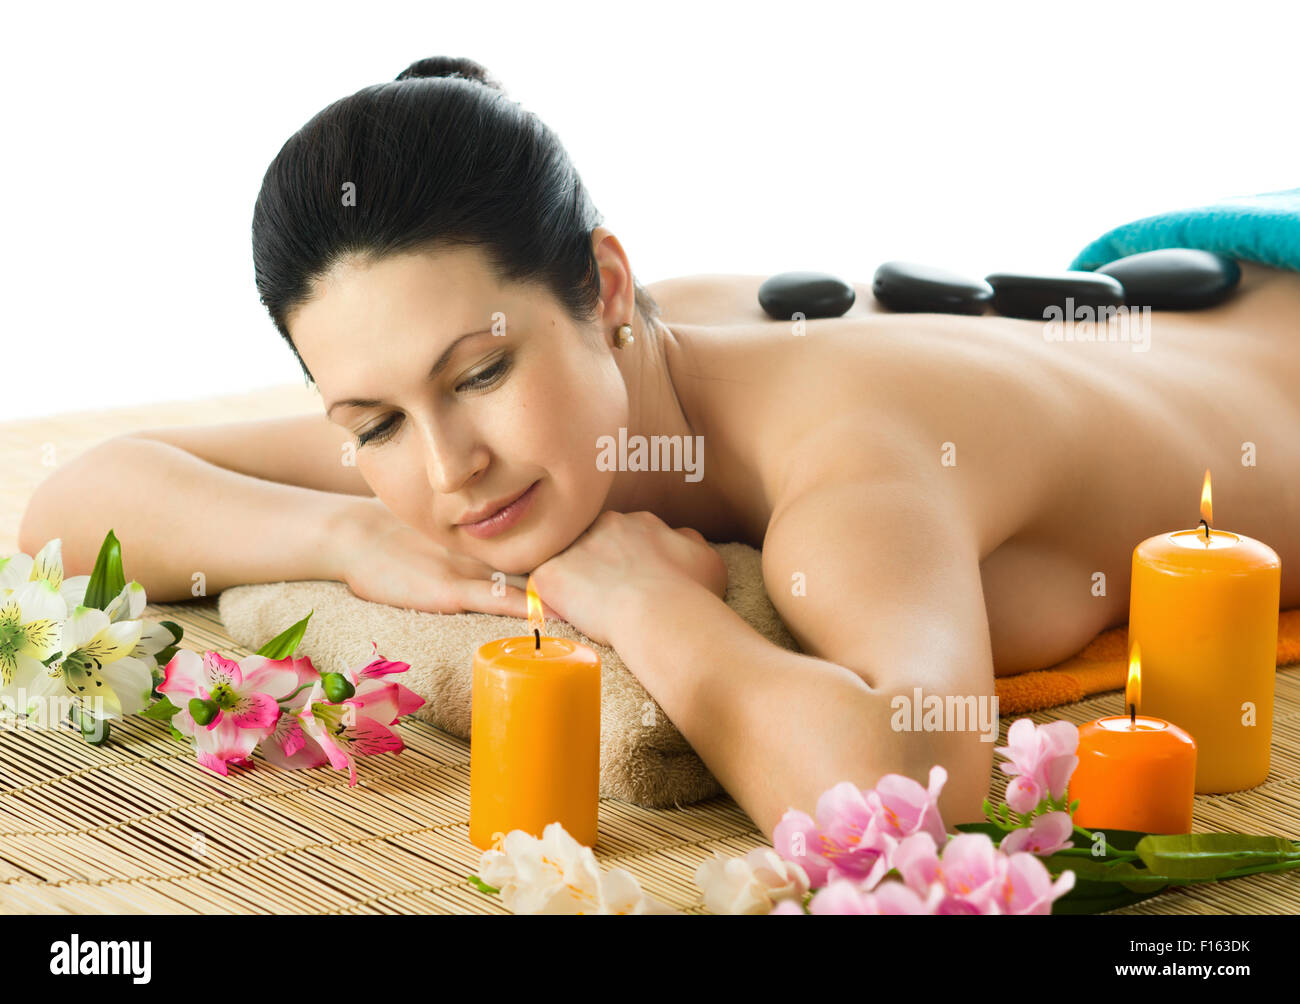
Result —
[[230, 585], [332, 579], [330, 531], [352, 497], [226, 471], [176, 446], [121, 437], [43, 481], [20, 532], [29, 554], [62, 538], [64, 572], [91, 571], [112, 529], [126, 577], [155, 602]]

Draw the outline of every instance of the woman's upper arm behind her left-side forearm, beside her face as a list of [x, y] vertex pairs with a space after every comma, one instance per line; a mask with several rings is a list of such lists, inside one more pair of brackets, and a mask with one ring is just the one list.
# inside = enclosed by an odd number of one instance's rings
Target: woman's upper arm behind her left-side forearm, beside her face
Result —
[[129, 436], [169, 443], [250, 477], [320, 492], [374, 494], [356, 467], [352, 437], [318, 412], [140, 429]]

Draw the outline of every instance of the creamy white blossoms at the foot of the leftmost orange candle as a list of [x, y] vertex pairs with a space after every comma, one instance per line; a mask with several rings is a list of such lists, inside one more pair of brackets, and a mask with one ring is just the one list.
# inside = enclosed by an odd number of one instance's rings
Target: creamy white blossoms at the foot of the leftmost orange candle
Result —
[[500, 890], [511, 913], [677, 913], [646, 896], [630, 873], [602, 873], [592, 848], [559, 822], [549, 823], [541, 840], [523, 830], [506, 834], [500, 851], [484, 852], [478, 877]]

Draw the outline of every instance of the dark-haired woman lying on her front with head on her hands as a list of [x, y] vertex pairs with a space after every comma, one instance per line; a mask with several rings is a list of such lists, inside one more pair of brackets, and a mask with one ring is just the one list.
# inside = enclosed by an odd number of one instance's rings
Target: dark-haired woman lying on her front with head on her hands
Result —
[[[554, 134], [447, 59], [285, 144], [254, 258], [326, 419], [110, 441], [42, 486], [23, 544], [61, 535], [88, 571], [104, 506], [79, 527], [75, 495], [112, 471], [110, 522], [157, 601], [203, 570], [209, 592], [338, 579], [523, 616], [499, 574], [533, 572], [768, 838], [836, 782], [924, 783], [933, 763], [944, 818], [980, 818], [993, 744], [896, 731], [892, 698], [987, 700], [994, 672], [1123, 623], [1132, 546], [1195, 525], [1208, 467], [1225, 523], [1278, 550], [1300, 603], [1292, 273], [1247, 265], [1228, 303], [1154, 315], [1148, 351], [878, 313], [861, 286], [846, 316], [802, 324], [766, 319], [758, 280], [647, 291]], [[684, 450], [670, 469], [607, 449], [655, 436], [679, 437], [656, 441]], [[762, 548], [802, 653], [725, 606], [706, 540]]]

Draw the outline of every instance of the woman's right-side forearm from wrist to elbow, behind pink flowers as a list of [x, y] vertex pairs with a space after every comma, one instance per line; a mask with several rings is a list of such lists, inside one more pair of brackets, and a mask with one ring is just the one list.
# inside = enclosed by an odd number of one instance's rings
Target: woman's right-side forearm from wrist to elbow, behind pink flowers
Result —
[[892, 730], [892, 693], [774, 645], [702, 587], [621, 609], [614, 648], [768, 839], [786, 809], [814, 815], [841, 780], [924, 786], [935, 763], [949, 773], [945, 825], [982, 818], [993, 744], [975, 732]]

